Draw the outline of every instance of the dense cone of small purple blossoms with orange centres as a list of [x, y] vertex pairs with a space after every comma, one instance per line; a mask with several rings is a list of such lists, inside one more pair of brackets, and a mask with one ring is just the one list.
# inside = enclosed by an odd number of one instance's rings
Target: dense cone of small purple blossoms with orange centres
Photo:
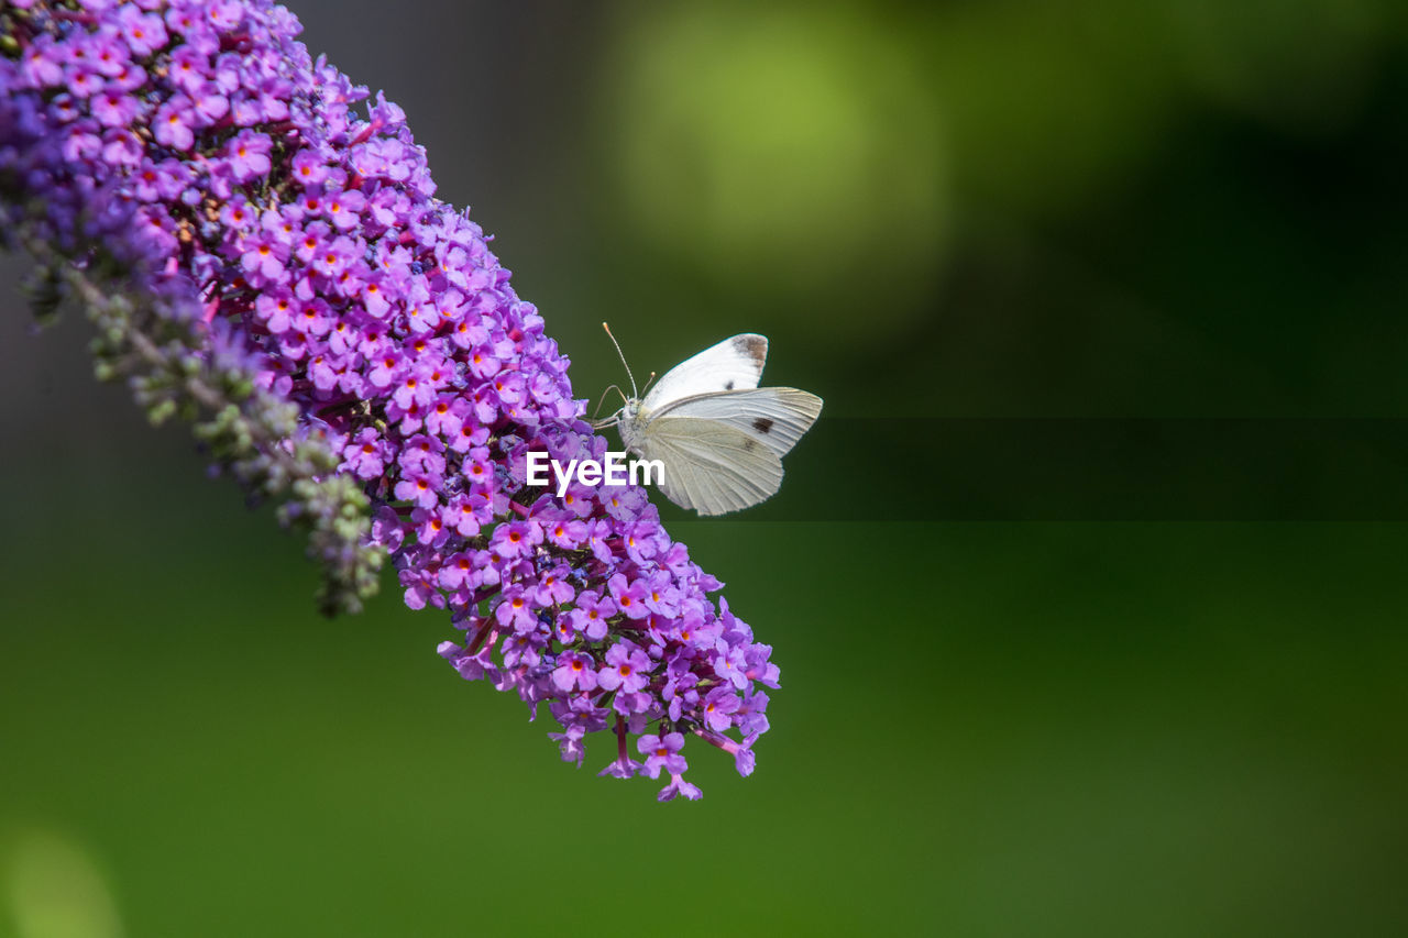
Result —
[[528, 452], [607, 442], [479, 225], [434, 199], [398, 107], [353, 110], [366, 90], [268, 1], [8, 0], [0, 25], [0, 194], [27, 245], [144, 270], [162, 328], [197, 342], [177, 373], [296, 408], [262, 458], [332, 454], [301, 482], [372, 506], [355, 551], [389, 555], [411, 607], [449, 611], [465, 635], [439, 652], [463, 677], [546, 703], [563, 759], [610, 730], [603, 775], [663, 772], [662, 800], [700, 794], [686, 734], [752, 772], [772, 649], [714, 606], [641, 489], [525, 486]]

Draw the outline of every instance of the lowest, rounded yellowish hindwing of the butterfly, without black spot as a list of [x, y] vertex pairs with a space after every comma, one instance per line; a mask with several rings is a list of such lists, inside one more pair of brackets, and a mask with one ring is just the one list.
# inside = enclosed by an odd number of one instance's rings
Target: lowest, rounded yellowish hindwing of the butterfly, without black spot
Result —
[[634, 442], [643, 459], [665, 463], [665, 497], [701, 515], [739, 511], [783, 484], [783, 463], [772, 449], [715, 420], [656, 417]]

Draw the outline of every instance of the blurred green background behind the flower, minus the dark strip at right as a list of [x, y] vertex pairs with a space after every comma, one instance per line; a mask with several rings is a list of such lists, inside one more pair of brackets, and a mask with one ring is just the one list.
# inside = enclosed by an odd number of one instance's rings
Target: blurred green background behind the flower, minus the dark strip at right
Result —
[[934, 417], [1408, 414], [1408, 7], [293, 8], [579, 396], [603, 320], [636, 372], [765, 332], [828, 414], [779, 504], [890, 520], [672, 524], [783, 689], [756, 775], [697, 744], [658, 806], [460, 682], [444, 615], [317, 617], [269, 511], [8, 292], [0, 935], [1408, 931], [1408, 527], [904, 523], [867, 459]]

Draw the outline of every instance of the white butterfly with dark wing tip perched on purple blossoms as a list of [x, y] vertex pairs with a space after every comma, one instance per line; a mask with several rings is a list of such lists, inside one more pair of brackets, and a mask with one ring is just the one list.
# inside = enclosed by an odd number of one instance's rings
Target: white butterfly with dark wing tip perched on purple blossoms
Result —
[[781, 486], [781, 458], [821, 413], [815, 394], [759, 387], [766, 361], [767, 338], [743, 332], [672, 368], [645, 400], [627, 365], [632, 397], [598, 425], [614, 424], [627, 449], [659, 459], [659, 489], [681, 508], [711, 515], [758, 504]]

